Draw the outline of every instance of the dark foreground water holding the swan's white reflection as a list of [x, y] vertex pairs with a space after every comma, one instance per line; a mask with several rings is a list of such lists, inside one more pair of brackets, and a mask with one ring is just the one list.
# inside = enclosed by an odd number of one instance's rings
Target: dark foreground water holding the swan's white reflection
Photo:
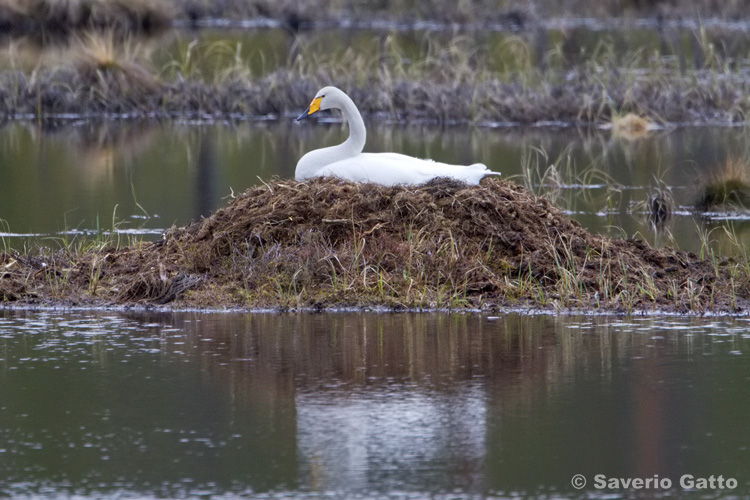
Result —
[[748, 353], [746, 319], [6, 311], [0, 495], [742, 498]]

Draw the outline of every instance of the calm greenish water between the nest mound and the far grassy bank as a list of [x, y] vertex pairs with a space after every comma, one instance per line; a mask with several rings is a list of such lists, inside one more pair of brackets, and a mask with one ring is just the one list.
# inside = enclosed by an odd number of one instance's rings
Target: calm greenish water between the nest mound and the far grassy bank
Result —
[[[293, 178], [311, 149], [342, 141], [338, 123], [190, 125], [66, 122], [54, 130], [15, 123], [0, 129], [0, 245], [113, 229], [158, 238], [208, 215], [232, 193], [274, 176]], [[690, 127], [636, 141], [609, 131], [552, 128], [438, 128], [374, 123], [367, 151], [396, 151], [451, 163], [486, 163], [545, 195], [587, 229], [699, 252], [701, 235], [722, 253], [745, 242], [750, 214], [697, 216], [702, 179], [728, 157], [747, 156], [745, 128]], [[554, 166], [554, 168], [550, 168]], [[675, 216], [655, 234], [645, 202], [669, 186]], [[47, 240], [54, 245], [55, 242]]]

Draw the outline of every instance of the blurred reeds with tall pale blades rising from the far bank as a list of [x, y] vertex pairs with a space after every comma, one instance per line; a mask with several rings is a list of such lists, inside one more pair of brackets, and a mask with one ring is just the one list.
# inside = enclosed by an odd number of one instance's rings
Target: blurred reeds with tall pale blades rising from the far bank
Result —
[[[174, 61], [152, 68], [141, 40], [123, 41], [113, 32], [82, 34], [77, 40], [68, 52], [78, 55], [35, 62], [30, 74], [0, 72], [0, 91], [7, 94], [0, 101], [0, 118], [71, 112], [217, 119], [292, 116], [326, 84], [346, 90], [368, 118], [403, 121], [591, 126], [610, 121], [616, 125], [618, 114], [627, 109], [657, 116], [660, 122], [713, 122], [717, 116], [736, 122], [750, 114], [750, 83], [727, 67], [685, 75], [668, 62], [650, 72], [640, 70], [637, 62], [616, 68], [603, 48], [586, 65], [564, 72], [555, 62], [558, 56], [550, 53], [542, 71], [533, 63], [527, 42], [519, 38], [503, 49], [513, 54], [512, 69], [493, 63], [488, 47], [463, 36], [426, 36], [422, 58], [410, 62], [398, 38], [384, 36], [366, 49], [335, 53], [300, 42], [285, 66], [263, 75], [251, 70], [238, 44], [191, 43]], [[202, 73], [202, 61], [196, 59], [217, 59], [217, 54], [227, 61], [226, 67]], [[636, 127], [633, 119], [626, 122], [630, 124], [622, 128], [628, 131], [653, 128], [640, 121]]]

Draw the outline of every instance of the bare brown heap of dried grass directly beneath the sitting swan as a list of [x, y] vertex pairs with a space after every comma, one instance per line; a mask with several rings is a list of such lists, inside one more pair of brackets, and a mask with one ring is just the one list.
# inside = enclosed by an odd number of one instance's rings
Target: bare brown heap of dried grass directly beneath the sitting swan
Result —
[[546, 252], [554, 235], [591, 236], [546, 200], [508, 182], [469, 187], [437, 180], [403, 188], [331, 179], [253, 189], [168, 241], [175, 250], [186, 244], [200, 249], [192, 252], [204, 259], [194, 262], [199, 269], [232, 255], [257, 258], [274, 246], [309, 250], [313, 241], [340, 260], [346, 252], [337, 250], [364, 242], [363, 256], [376, 258], [381, 269], [396, 272], [404, 259], [416, 257], [424, 272], [439, 277], [446, 252], [456, 257], [457, 270], [468, 272], [479, 253], [497, 261]]

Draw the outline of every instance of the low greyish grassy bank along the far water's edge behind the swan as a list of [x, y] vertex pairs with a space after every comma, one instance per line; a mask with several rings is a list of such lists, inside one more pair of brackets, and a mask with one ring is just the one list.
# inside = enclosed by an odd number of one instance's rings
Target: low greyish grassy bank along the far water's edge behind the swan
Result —
[[95, 116], [246, 120], [299, 113], [324, 84], [334, 84], [354, 99], [369, 119], [405, 122], [533, 124], [563, 122], [579, 126], [608, 123], [635, 112], [658, 122], [731, 124], [750, 114], [750, 80], [741, 75], [693, 75], [603, 81], [585, 71], [564, 82], [486, 80], [371, 81], [321, 70], [299, 75], [281, 70], [268, 77], [228, 76], [219, 82], [165, 82], [137, 66], [121, 64], [0, 73], [0, 120], [60, 114]]

